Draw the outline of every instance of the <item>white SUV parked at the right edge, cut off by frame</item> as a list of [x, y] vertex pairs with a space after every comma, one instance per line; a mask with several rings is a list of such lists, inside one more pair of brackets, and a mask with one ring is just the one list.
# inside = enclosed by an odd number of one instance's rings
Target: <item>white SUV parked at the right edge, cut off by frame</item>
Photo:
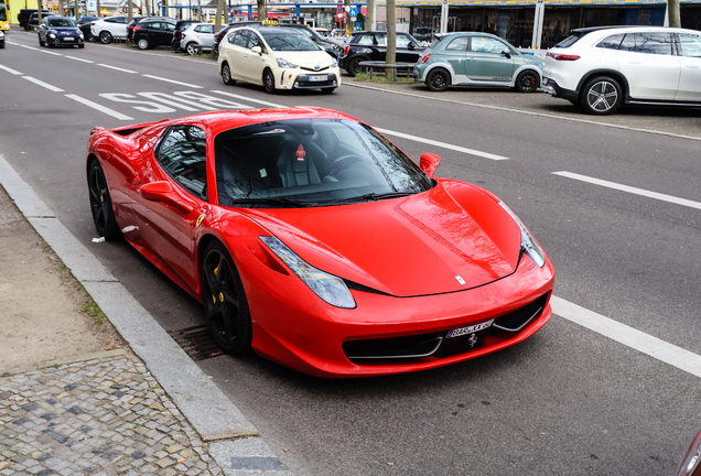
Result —
[[622, 104], [701, 106], [701, 32], [662, 26], [573, 30], [546, 56], [542, 89], [605, 115]]

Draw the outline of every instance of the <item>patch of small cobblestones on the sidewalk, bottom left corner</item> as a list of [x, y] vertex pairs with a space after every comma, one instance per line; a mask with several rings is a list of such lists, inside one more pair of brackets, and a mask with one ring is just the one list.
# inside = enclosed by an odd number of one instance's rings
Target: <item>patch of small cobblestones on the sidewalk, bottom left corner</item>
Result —
[[0, 475], [211, 475], [222, 469], [131, 355], [0, 377]]

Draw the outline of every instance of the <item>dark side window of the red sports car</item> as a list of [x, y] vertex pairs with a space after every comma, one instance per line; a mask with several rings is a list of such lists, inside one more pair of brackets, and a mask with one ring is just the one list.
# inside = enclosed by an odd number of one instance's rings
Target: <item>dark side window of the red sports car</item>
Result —
[[207, 140], [202, 129], [172, 127], [161, 140], [155, 159], [183, 188], [207, 199]]

